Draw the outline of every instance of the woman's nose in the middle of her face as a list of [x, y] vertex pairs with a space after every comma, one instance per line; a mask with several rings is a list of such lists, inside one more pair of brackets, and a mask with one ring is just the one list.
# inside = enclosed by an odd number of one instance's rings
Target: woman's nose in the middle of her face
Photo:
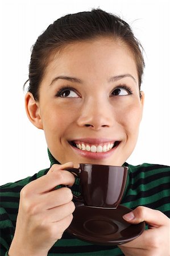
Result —
[[114, 122], [113, 106], [108, 100], [91, 98], [80, 109], [80, 116], [77, 119], [78, 126], [91, 127], [93, 130], [100, 130], [102, 127], [110, 127]]

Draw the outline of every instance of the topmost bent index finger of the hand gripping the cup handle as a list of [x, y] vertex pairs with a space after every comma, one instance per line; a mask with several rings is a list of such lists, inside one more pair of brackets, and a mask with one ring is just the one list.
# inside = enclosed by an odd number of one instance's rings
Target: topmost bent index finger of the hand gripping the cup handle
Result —
[[45, 193], [54, 189], [57, 185], [73, 185], [75, 178], [71, 172], [64, 171], [63, 168], [67, 166], [68, 168], [73, 166], [73, 163], [69, 162], [67, 164], [53, 164], [52, 170], [49, 171], [47, 175], [39, 177], [38, 179], [28, 183], [24, 189], [24, 195], [32, 195], [38, 193]]

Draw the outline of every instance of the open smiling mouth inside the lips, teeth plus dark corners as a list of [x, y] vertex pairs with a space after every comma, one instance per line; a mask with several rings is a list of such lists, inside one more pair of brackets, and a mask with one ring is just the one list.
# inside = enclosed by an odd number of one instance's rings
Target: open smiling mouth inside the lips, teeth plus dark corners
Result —
[[93, 152], [93, 153], [102, 153], [102, 152], [107, 152], [110, 151], [112, 148], [118, 146], [119, 142], [104, 142], [104, 143], [86, 143], [82, 141], [72, 141], [71, 142], [72, 146], [77, 147], [81, 151], [88, 151], [88, 152]]

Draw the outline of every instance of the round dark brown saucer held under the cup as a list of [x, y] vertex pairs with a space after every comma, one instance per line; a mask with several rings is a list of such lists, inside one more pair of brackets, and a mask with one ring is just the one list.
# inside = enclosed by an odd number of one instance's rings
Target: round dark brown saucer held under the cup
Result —
[[100, 209], [76, 203], [73, 221], [67, 231], [77, 238], [97, 245], [121, 245], [130, 242], [145, 229], [145, 223], [128, 224], [123, 214], [130, 208], [119, 205], [117, 209]]

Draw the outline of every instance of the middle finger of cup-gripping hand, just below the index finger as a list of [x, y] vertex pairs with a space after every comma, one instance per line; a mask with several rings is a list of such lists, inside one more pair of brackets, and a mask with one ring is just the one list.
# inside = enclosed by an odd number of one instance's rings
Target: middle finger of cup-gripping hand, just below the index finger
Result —
[[73, 199], [70, 188], [59, 188], [42, 195], [43, 209], [51, 209], [63, 204], [67, 204]]

